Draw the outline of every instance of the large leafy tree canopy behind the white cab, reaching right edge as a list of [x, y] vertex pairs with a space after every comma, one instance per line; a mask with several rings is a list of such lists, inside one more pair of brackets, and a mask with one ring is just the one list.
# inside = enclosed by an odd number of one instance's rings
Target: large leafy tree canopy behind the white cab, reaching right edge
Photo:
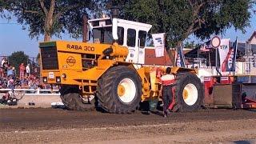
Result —
[[118, 0], [121, 17], [153, 25], [152, 33], [166, 33], [168, 46], [175, 47], [194, 34], [210, 38], [231, 26], [245, 32], [250, 26], [253, 0]]

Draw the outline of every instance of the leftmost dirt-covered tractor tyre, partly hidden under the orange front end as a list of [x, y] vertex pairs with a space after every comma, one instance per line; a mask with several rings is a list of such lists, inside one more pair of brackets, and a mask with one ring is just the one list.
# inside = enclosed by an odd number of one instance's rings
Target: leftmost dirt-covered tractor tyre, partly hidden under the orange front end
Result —
[[86, 111], [93, 110], [95, 107], [94, 99], [90, 99], [89, 102], [84, 102], [78, 86], [61, 86], [60, 93], [62, 102], [68, 110]]

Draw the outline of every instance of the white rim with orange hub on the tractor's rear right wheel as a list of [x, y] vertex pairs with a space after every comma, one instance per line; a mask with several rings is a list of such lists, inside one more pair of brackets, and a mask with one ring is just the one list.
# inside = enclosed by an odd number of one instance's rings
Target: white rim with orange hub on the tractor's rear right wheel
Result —
[[198, 100], [198, 89], [194, 84], [189, 83], [184, 87], [184, 90], [182, 92], [183, 100], [184, 102], [192, 106], [195, 102]]

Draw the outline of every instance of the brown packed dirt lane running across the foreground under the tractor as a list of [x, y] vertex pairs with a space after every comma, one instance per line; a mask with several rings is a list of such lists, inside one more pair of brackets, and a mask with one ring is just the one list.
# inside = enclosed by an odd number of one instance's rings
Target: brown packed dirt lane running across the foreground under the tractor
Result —
[[0, 110], [0, 142], [210, 143], [256, 138], [256, 112], [200, 110], [104, 114], [55, 109]]

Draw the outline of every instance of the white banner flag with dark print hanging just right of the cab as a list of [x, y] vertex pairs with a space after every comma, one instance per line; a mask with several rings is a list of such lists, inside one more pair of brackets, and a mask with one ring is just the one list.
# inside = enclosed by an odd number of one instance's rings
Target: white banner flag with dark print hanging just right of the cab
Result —
[[156, 57], [164, 56], [165, 52], [165, 33], [152, 34]]

